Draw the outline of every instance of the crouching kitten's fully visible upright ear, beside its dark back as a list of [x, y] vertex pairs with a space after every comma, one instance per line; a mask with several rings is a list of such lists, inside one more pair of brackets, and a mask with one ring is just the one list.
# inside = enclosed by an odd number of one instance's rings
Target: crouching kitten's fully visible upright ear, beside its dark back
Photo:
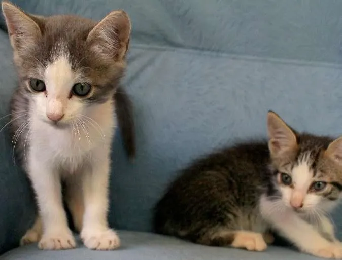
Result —
[[267, 114], [268, 148], [272, 156], [294, 150], [297, 138], [292, 129], [274, 112]]

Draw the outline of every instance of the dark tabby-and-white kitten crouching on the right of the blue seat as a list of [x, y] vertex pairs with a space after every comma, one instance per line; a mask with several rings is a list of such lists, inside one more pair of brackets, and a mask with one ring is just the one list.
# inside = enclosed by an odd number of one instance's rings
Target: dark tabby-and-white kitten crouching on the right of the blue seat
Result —
[[236, 144], [183, 170], [156, 204], [156, 232], [262, 251], [275, 231], [302, 252], [341, 258], [326, 214], [341, 197], [342, 137], [296, 133], [273, 112], [267, 127], [268, 145]]

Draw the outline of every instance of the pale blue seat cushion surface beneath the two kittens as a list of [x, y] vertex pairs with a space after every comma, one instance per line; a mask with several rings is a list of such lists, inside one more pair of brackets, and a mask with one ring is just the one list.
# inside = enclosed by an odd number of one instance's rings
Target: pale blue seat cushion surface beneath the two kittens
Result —
[[0, 260], [314, 260], [310, 255], [294, 250], [269, 247], [265, 252], [248, 252], [240, 249], [201, 246], [175, 238], [151, 233], [119, 232], [122, 248], [117, 251], [91, 251], [80, 245], [73, 250], [42, 251], [37, 245], [10, 251]]

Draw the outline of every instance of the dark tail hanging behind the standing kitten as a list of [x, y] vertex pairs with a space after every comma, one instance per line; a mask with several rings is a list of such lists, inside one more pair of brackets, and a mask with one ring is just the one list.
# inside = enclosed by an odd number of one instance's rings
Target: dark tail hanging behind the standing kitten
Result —
[[114, 94], [116, 115], [123, 139], [123, 144], [130, 160], [135, 159], [135, 124], [133, 120], [133, 105], [126, 91], [120, 86]]

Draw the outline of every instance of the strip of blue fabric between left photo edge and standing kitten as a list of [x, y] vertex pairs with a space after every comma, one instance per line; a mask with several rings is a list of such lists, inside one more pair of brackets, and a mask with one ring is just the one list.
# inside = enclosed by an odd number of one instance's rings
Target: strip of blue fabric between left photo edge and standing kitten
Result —
[[0, 254], [17, 246], [33, 217], [32, 193], [25, 174], [15, 167], [6, 124], [16, 84], [8, 35], [0, 31]]

